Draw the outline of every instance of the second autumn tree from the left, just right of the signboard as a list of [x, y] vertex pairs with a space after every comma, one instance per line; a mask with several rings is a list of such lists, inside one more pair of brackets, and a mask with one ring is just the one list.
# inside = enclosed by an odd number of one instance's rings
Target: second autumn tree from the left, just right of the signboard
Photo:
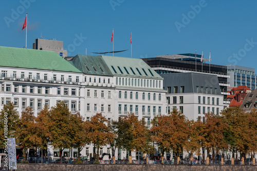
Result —
[[27, 149], [39, 145], [40, 138], [36, 136], [35, 117], [30, 107], [22, 112], [21, 120], [17, 123], [17, 142], [23, 149], [23, 159], [26, 160]]

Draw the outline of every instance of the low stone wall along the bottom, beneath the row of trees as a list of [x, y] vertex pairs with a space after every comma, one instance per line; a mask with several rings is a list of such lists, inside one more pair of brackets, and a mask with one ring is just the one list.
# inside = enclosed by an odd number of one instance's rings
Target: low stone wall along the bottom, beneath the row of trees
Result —
[[131, 165], [131, 164], [17, 164], [17, 171], [80, 171], [80, 170], [148, 170], [148, 171], [193, 171], [193, 170], [226, 170], [226, 171], [244, 171], [257, 170], [253, 165]]

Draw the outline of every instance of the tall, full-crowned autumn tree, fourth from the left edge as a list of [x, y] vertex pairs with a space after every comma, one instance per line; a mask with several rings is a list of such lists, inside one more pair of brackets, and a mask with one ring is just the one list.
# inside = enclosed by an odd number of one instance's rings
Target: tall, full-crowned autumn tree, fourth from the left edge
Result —
[[50, 144], [54, 149], [59, 149], [62, 163], [62, 152], [64, 148], [72, 146], [72, 124], [70, 124], [71, 113], [68, 106], [61, 101], [49, 111]]

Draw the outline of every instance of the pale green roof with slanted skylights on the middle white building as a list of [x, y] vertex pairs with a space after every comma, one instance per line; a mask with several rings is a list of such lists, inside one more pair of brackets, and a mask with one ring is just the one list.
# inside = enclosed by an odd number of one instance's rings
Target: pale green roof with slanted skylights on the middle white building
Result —
[[77, 55], [70, 62], [83, 73], [162, 79], [142, 59]]

